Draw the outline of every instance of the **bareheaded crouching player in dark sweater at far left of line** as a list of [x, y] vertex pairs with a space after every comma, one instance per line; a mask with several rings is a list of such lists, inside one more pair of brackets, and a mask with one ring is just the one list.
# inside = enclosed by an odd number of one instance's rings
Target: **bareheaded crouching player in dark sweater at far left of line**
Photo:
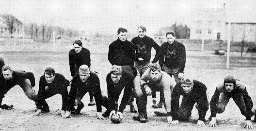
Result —
[[19, 85], [29, 99], [37, 103], [37, 96], [34, 92], [35, 78], [32, 72], [13, 71], [10, 66], [3, 66], [0, 76], [0, 105], [4, 95], [15, 85]]

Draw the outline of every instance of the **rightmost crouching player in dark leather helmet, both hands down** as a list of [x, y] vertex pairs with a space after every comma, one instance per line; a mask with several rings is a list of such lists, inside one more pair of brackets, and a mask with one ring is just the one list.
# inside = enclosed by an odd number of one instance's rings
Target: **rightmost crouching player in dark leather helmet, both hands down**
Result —
[[246, 129], [253, 129], [251, 123], [251, 117], [254, 115], [252, 112], [253, 102], [251, 97], [246, 91], [246, 87], [240, 82], [240, 80], [234, 79], [232, 76], [226, 76], [224, 83], [219, 84], [211, 97], [210, 111], [211, 116], [209, 118], [209, 127], [216, 126], [216, 114], [223, 113], [225, 106], [230, 98], [233, 98], [234, 102], [238, 105], [243, 116], [246, 117], [245, 126]]

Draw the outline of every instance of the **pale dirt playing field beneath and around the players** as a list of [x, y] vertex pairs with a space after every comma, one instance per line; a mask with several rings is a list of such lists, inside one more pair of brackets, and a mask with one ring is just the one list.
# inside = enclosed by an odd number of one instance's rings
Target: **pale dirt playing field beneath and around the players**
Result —
[[[195, 52], [196, 53], [196, 52]], [[184, 70], [185, 76], [190, 76], [203, 82], [209, 92], [209, 99], [215, 91], [215, 86], [223, 82], [226, 75], [232, 75], [240, 79], [247, 88], [249, 95], [256, 104], [256, 58], [230, 58], [230, 69], [225, 69], [226, 57], [213, 54], [192, 55], [188, 52], [187, 62]], [[6, 62], [14, 70], [31, 71], [35, 75], [36, 92], [38, 91], [39, 78], [43, 75], [47, 66], [54, 67], [57, 73], [62, 73], [66, 79], [71, 79], [68, 52], [0, 52]], [[107, 53], [92, 53], [92, 69], [98, 72], [101, 90], [106, 90], [106, 75], [109, 73], [111, 64], [107, 59]], [[157, 93], [159, 98], [159, 93]], [[159, 100], [159, 99], [158, 99]], [[181, 122], [179, 125], [169, 125], [166, 117], [157, 117], [154, 115], [152, 97], [148, 96], [147, 112], [149, 121], [140, 123], [132, 119], [135, 113], [129, 112], [129, 106], [124, 110], [124, 119], [120, 124], [112, 124], [110, 119], [96, 119], [96, 106], [87, 106], [89, 103], [89, 94], [82, 99], [85, 107], [81, 110], [81, 115], [73, 115], [73, 118], [63, 119], [60, 117], [62, 105], [61, 95], [55, 95], [47, 99], [50, 107], [49, 113], [42, 116], [32, 117], [35, 105], [28, 99], [22, 89], [18, 86], [12, 88], [2, 104], [14, 105], [13, 110], [2, 110], [0, 112], [0, 130], [22, 130], [22, 131], [51, 131], [51, 130], [88, 130], [88, 131], [243, 131], [245, 117], [241, 115], [239, 108], [231, 99], [226, 106], [223, 114], [217, 115], [217, 128], [208, 128], [196, 126], [198, 112], [192, 110], [192, 117], [189, 122]], [[134, 103], [135, 104], [135, 103]], [[103, 107], [104, 112], [106, 109]], [[164, 110], [164, 109], [159, 109]], [[137, 115], [137, 114], [136, 114]], [[205, 124], [208, 125], [210, 110], [206, 115]], [[254, 119], [254, 117], [252, 117]], [[256, 129], [256, 123], [253, 123]], [[255, 130], [254, 129], [254, 130]]]

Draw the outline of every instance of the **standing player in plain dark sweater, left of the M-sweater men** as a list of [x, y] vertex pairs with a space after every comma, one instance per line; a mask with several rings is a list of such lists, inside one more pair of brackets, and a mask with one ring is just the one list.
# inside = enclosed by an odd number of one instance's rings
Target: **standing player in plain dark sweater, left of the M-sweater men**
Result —
[[[109, 62], [117, 66], [132, 66], [135, 61], [135, 49], [132, 42], [127, 40], [127, 29], [118, 28], [117, 30], [118, 38], [112, 42], [109, 46], [108, 59]], [[135, 111], [133, 105], [133, 99], [130, 102], [130, 111]]]

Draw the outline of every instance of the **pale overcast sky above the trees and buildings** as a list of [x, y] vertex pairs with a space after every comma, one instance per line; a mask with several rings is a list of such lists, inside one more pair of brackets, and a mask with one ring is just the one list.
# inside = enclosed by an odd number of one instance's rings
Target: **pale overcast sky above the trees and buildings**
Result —
[[62, 26], [115, 34], [118, 27], [147, 33], [175, 22], [191, 25], [196, 8], [223, 8], [227, 20], [256, 22], [256, 0], [0, 0], [0, 14], [11, 13], [23, 23]]

